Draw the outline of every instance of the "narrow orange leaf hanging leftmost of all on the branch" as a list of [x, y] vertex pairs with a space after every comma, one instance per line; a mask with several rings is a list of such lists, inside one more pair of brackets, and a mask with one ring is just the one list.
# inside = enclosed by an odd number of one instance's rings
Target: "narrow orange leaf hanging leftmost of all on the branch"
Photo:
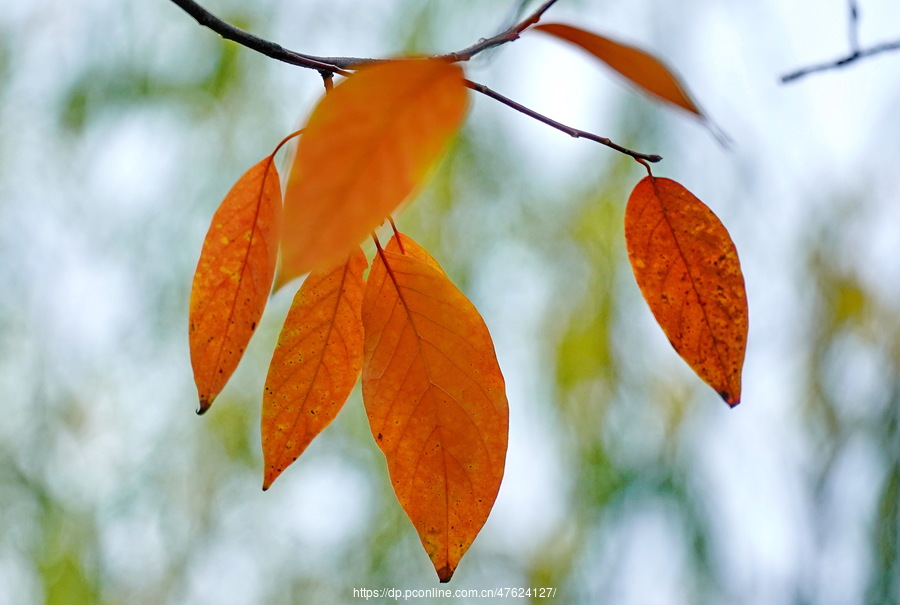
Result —
[[248, 170], [213, 215], [194, 273], [190, 349], [202, 414], [256, 330], [275, 275], [281, 185], [273, 156]]

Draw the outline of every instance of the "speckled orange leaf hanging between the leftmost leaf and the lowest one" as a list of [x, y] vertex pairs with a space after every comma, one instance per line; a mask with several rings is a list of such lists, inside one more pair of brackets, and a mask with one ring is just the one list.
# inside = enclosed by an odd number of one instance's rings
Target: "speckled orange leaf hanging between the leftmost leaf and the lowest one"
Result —
[[362, 369], [363, 272], [357, 247], [342, 265], [306, 278], [272, 355], [263, 393], [263, 489], [341, 410]]

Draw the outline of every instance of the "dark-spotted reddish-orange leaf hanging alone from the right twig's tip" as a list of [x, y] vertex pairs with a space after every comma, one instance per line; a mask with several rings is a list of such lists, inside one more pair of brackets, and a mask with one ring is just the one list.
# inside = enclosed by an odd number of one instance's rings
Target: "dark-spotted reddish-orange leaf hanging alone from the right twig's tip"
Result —
[[648, 176], [628, 199], [625, 242], [672, 346], [728, 405], [740, 403], [747, 293], [725, 226], [680, 184]]

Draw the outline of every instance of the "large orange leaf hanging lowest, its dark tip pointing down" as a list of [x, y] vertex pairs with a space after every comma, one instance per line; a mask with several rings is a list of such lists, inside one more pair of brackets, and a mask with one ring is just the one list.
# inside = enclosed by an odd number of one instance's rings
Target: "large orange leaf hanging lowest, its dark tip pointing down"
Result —
[[396, 238], [379, 253], [366, 286], [363, 399], [397, 499], [447, 582], [500, 489], [509, 409], [478, 311], [402, 242], [405, 254]]

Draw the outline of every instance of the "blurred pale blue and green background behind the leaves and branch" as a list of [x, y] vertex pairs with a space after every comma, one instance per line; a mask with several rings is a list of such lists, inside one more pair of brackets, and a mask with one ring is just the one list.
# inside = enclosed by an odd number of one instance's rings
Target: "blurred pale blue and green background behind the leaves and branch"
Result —
[[[390, 56], [463, 48], [537, 3], [203, 4], [295, 50]], [[900, 38], [898, 3], [859, 8], [863, 46]], [[398, 218], [481, 310], [508, 385], [504, 483], [449, 588], [900, 602], [900, 53], [780, 84], [845, 54], [844, 0], [560, 0], [545, 21], [664, 57], [733, 140], [539, 33], [467, 66], [662, 154], [656, 174], [718, 214], [750, 300], [743, 403], [691, 373], [640, 298], [622, 217], [643, 168], [473, 98]], [[262, 385], [296, 285], [194, 415], [188, 296], [210, 218], [321, 87], [166, 0], [0, 11], [0, 604], [438, 586], [358, 390], [260, 490]]]

